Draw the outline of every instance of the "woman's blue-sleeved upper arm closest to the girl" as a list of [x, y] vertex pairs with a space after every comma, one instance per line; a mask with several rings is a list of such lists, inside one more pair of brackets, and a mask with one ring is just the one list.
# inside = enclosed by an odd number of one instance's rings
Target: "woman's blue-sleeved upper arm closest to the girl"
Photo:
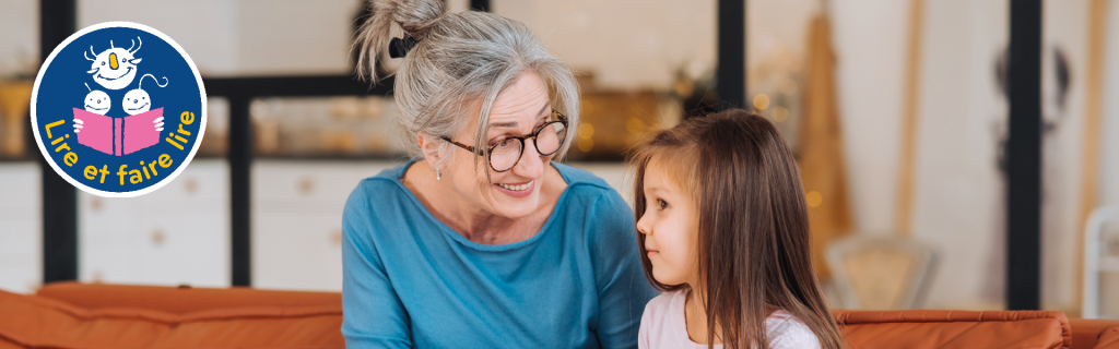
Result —
[[645, 305], [658, 292], [645, 279], [637, 247], [637, 226], [629, 206], [610, 192], [587, 213], [599, 216], [594, 246], [599, 285], [596, 334], [603, 348], [637, 348]]

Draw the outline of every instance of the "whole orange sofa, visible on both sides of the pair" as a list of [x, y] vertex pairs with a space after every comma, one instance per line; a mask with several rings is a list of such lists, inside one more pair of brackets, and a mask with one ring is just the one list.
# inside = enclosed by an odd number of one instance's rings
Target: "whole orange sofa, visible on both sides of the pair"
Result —
[[[1053, 311], [835, 312], [854, 349], [1119, 349], [1119, 321]], [[53, 283], [0, 291], [0, 349], [344, 348], [341, 295]]]

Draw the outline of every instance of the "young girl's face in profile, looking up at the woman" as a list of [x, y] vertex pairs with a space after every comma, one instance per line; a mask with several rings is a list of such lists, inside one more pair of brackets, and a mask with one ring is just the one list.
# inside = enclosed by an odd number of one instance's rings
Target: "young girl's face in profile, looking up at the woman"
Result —
[[666, 285], [694, 286], [698, 275], [698, 209], [656, 157], [646, 167], [642, 190], [646, 209], [637, 229], [646, 235], [645, 249], [652, 262], [652, 276]]

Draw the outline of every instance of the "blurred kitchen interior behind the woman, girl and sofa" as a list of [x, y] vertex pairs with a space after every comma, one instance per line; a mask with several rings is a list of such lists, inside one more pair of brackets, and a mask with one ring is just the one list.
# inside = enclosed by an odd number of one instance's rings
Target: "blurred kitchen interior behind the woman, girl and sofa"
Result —
[[[1024, 202], [1040, 214], [1012, 216], [1036, 221], [1031, 266], [1007, 262], [1008, 0], [755, 0], [722, 17], [727, 2], [446, 0], [528, 25], [577, 70], [585, 116], [566, 161], [623, 196], [622, 153], [651, 130], [731, 105], [770, 117], [800, 161], [835, 306], [1002, 310], [1023, 291], [1038, 294], [1033, 308], [1119, 317], [1119, 225], [1085, 234], [1093, 209], [1119, 205], [1119, 3], [1042, 2], [1041, 188]], [[207, 130], [159, 191], [56, 198], [27, 114], [53, 49], [40, 35], [55, 23], [39, 1], [0, 0], [0, 289], [76, 279], [340, 291], [347, 196], [406, 161], [392, 82], [350, 78], [364, 1], [72, 3], [63, 38], [124, 20], [178, 41], [206, 78]], [[45, 211], [57, 200], [74, 211]], [[1100, 257], [1085, 262], [1089, 252]], [[1016, 268], [1033, 275], [1027, 290], [1007, 285]]]

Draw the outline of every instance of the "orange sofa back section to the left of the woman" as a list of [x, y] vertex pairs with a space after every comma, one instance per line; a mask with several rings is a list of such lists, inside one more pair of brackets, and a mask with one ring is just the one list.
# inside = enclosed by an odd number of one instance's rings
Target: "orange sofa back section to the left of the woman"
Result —
[[0, 291], [0, 348], [345, 348], [341, 302], [172, 313]]

